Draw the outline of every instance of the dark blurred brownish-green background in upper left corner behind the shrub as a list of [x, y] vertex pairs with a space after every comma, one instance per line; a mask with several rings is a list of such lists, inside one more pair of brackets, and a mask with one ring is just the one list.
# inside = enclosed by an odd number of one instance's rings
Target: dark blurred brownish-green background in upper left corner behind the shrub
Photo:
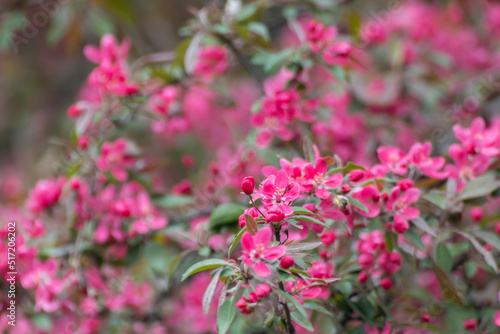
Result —
[[[0, 174], [15, 168], [27, 185], [49, 170], [68, 138], [64, 117], [93, 68], [87, 44], [105, 33], [132, 40], [131, 59], [172, 50], [190, 8], [203, 0], [0, 0]], [[20, 173], [19, 173], [20, 172]]]

